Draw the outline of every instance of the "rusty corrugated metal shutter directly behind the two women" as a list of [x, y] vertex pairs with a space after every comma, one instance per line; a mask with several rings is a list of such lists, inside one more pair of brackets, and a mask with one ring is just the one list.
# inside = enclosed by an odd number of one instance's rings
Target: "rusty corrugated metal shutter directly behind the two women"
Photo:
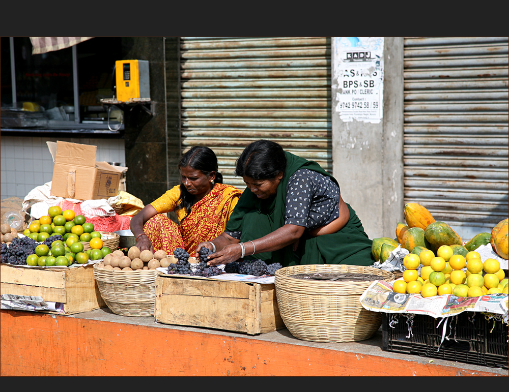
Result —
[[235, 160], [258, 139], [332, 172], [330, 38], [181, 37], [180, 50], [183, 152], [209, 146], [242, 189]]

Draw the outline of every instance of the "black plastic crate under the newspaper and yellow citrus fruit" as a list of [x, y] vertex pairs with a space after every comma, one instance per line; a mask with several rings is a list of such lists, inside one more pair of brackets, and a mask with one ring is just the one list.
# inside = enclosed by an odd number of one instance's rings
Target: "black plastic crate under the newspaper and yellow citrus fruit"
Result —
[[481, 312], [462, 312], [448, 317], [440, 346], [445, 320], [438, 325], [440, 321], [427, 315], [382, 313], [382, 350], [490, 368], [509, 367], [507, 324], [487, 319]]

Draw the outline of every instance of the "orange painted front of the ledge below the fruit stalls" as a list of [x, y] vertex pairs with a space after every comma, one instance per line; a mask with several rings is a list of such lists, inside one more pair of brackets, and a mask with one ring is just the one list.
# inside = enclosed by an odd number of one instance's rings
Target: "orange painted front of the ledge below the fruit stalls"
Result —
[[1, 344], [2, 376], [507, 376], [428, 358], [23, 311], [1, 311]]

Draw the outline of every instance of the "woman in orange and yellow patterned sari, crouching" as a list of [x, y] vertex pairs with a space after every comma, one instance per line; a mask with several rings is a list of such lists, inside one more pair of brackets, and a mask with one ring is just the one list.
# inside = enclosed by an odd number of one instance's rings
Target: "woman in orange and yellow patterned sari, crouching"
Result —
[[[173, 254], [177, 248], [189, 254], [201, 242], [224, 231], [241, 191], [222, 184], [217, 157], [209, 147], [194, 146], [179, 162], [182, 184], [166, 191], [131, 219], [136, 247]], [[179, 224], [166, 216], [175, 211]]]

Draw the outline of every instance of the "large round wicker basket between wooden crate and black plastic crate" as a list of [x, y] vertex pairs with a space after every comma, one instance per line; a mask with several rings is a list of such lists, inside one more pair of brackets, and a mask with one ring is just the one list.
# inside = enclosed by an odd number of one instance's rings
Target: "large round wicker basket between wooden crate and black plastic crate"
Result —
[[306, 264], [275, 272], [277, 304], [282, 320], [297, 339], [313, 342], [353, 342], [371, 338], [382, 314], [366, 310], [360, 296], [374, 280], [310, 281], [292, 278], [302, 273], [358, 273], [394, 280], [390, 272], [366, 266]]

